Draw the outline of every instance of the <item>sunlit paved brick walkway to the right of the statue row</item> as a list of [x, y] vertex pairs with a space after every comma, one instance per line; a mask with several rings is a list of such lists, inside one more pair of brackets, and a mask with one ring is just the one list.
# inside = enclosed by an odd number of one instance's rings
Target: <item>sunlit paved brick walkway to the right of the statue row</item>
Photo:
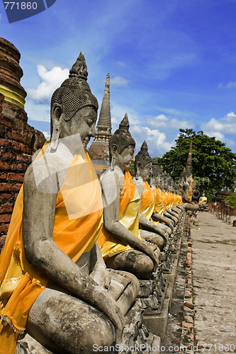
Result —
[[236, 353], [236, 227], [200, 212], [193, 239], [195, 353]]

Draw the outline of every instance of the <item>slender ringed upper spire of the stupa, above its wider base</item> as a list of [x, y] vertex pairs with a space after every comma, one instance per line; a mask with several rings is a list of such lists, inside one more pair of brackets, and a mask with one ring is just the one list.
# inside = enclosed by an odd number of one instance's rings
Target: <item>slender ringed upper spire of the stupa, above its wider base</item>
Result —
[[97, 129], [104, 128], [108, 133], [111, 133], [111, 108], [110, 108], [110, 74], [106, 75], [106, 85], [103, 94], [103, 102], [101, 104], [101, 110], [99, 115], [99, 122]]

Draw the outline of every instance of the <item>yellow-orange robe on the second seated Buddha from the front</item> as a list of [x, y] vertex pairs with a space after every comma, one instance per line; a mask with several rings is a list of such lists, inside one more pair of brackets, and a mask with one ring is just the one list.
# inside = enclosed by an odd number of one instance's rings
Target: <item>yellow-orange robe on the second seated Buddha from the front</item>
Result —
[[[119, 222], [142, 240], [139, 233], [140, 195], [128, 171], [125, 171], [124, 178], [125, 185], [120, 193]], [[111, 234], [111, 232], [108, 232], [104, 226], [99, 236], [98, 243], [101, 254], [105, 260], [115, 254], [132, 249], [132, 247], [120, 241], [120, 239]]]

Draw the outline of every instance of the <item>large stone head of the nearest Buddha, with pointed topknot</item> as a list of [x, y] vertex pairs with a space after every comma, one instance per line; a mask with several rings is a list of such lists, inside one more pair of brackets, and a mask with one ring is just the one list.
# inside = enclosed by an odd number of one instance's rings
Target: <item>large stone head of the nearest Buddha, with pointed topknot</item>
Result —
[[90, 137], [95, 135], [95, 122], [99, 108], [96, 97], [91, 93], [84, 52], [69, 71], [69, 78], [52, 94], [50, 108], [51, 149], [57, 149], [60, 138], [77, 135], [86, 148]]

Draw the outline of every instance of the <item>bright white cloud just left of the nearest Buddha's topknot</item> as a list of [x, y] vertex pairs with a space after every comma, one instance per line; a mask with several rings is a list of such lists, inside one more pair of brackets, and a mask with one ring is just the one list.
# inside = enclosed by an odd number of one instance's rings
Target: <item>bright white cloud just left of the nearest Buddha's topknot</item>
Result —
[[67, 79], [69, 69], [54, 67], [48, 70], [43, 65], [37, 66], [40, 84], [36, 89], [28, 89], [28, 97], [38, 102], [50, 102], [52, 93]]

